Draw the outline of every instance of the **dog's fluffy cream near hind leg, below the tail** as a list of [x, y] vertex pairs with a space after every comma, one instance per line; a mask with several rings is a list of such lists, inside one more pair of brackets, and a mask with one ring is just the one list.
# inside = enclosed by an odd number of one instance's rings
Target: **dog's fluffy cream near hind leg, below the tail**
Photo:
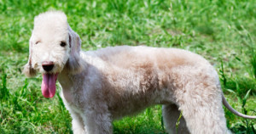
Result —
[[224, 118], [221, 91], [215, 86], [197, 85], [188, 86], [179, 97], [179, 109], [191, 134], [227, 134], [230, 133]]

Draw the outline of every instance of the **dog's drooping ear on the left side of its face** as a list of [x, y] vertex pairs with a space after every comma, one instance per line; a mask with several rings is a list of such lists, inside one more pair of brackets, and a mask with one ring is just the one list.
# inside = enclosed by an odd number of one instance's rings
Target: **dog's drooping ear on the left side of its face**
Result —
[[33, 77], [37, 75], [37, 71], [32, 68], [32, 42], [31, 41], [29, 42], [29, 58], [28, 58], [27, 64], [25, 64], [24, 66], [23, 73], [27, 77]]

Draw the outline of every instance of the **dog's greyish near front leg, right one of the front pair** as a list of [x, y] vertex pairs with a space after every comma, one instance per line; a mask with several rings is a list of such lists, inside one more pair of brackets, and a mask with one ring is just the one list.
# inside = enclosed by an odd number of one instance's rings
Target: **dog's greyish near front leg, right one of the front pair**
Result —
[[112, 134], [113, 126], [110, 113], [102, 108], [95, 109], [84, 112], [84, 130], [88, 134]]

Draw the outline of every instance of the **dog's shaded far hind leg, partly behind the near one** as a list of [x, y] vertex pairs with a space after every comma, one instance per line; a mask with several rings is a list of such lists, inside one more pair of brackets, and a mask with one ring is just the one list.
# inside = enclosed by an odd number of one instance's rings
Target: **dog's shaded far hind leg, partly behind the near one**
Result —
[[183, 117], [181, 117], [178, 126], [176, 126], [180, 111], [175, 104], [163, 105], [162, 114], [166, 131], [169, 134], [189, 134], [189, 130]]

